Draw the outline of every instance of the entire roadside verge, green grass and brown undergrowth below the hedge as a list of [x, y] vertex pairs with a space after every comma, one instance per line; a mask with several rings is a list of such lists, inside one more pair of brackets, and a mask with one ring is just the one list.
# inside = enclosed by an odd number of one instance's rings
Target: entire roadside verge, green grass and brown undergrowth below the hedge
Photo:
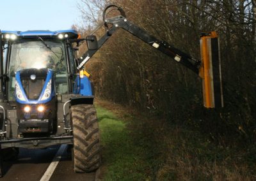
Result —
[[256, 180], [255, 145], [223, 147], [188, 127], [97, 105], [104, 180]]

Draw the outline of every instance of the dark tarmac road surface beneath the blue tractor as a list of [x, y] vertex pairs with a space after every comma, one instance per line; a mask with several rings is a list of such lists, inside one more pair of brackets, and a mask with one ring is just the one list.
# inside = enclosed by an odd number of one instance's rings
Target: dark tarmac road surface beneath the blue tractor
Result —
[[[4, 176], [0, 180], [41, 180], [52, 171], [49, 180], [95, 180], [95, 172], [93, 173], [74, 173], [73, 163], [70, 153], [67, 153], [67, 147], [62, 146], [63, 154], [56, 168], [52, 168], [52, 164], [56, 164], [56, 153], [60, 146], [49, 147], [47, 149], [26, 149], [20, 148], [19, 157], [16, 161], [4, 161]], [[60, 151], [59, 151], [60, 152]], [[52, 162], [52, 160], [54, 161]], [[52, 163], [52, 164], [51, 164]], [[51, 165], [51, 166], [50, 166]], [[47, 168], [50, 166], [50, 169]], [[48, 174], [48, 175], [47, 175]], [[44, 180], [46, 181], [46, 180]]]

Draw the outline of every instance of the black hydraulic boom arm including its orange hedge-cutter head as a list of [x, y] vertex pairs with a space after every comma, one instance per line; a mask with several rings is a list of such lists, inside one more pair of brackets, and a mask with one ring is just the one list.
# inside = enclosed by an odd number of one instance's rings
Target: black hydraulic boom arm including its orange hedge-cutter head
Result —
[[[106, 19], [106, 11], [111, 7], [117, 8], [121, 15]], [[203, 80], [204, 106], [206, 108], [223, 107], [220, 51], [218, 48], [218, 36], [215, 32], [204, 33], [201, 36], [201, 62], [168, 43], [157, 40], [157, 38], [138, 27], [138, 25], [127, 20], [124, 10], [116, 5], [112, 4], [105, 8], [103, 21], [102, 25], [105, 26], [106, 33], [99, 41], [95, 36], [87, 36], [88, 51], [81, 57], [81, 62], [77, 66], [78, 70], [83, 68], [84, 64], [104, 45], [115, 31], [124, 29], [199, 75]]]

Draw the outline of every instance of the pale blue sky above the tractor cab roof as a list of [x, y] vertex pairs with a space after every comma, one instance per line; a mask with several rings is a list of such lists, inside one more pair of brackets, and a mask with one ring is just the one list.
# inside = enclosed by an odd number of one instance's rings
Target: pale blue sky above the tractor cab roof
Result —
[[0, 29], [61, 30], [78, 24], [79, 0], [0, 0]]

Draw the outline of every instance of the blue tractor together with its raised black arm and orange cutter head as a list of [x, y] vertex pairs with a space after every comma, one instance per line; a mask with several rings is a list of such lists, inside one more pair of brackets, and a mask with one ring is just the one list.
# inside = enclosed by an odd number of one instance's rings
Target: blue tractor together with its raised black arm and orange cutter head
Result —
[[[106, 18], [109, 8], [121, 15]], [[75, 172], [99, 168], [99, 126], [83, 67], [120, 28], [200, 75], [205, 107], [223, 106], [215, 33], [202, 34], [203, 61], [196, 61], [132, 24], [118, 6], [107, 6], [103, 20], [106, 34], [99, 41], [93, 34], [81, 39], [74, 30], [0, 31], [0, 175], [3, 150], [60, 144], [73, 145]], [[77, 59], [75, 45], [83, 41], [88, 51]]]

